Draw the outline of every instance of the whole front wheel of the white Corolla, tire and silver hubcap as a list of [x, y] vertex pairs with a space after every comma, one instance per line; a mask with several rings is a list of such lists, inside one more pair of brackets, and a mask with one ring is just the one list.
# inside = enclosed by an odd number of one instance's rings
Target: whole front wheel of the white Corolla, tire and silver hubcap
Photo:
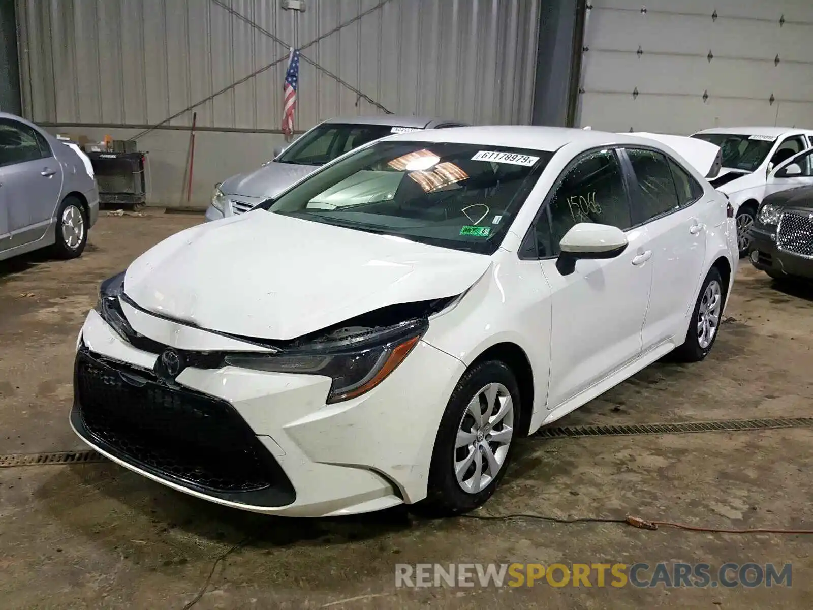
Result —
[[520, 407], [516, 378], [506, 364], [480, 362], [461, 377], [437, 429], [419, 512], [457, 515], [493, 495], [511, 460]]

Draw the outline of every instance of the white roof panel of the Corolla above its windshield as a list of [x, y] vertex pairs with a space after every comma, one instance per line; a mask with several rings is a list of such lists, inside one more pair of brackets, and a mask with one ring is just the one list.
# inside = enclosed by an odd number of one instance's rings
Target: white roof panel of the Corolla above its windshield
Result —
[[428, 129], [417, 135], [396, 133], [388, 140], [415, 140], [426, 142], [459, 142], [481, 146], [516, 146], [531, 150], [559, 150], [565, 144], [575, 143], [584, 148], [624, 144], [640, 144], [663, 148], [663, 143], [633, 134], [611, 133], [595, 129], [543, 127], [541, 125], [482, 125]]

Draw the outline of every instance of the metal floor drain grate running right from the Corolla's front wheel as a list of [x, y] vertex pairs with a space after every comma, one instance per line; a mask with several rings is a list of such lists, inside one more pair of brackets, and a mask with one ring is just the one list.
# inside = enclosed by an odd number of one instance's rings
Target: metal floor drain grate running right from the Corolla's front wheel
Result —
[[637, 434], [687, 434], [692, 432], [729, 432], [813, 426], [813, 417], [779, 417], [765, 420], [692, 421], [682, 424], [579, 425], [564, 428], [542, 428], [543, 438], [577, 438], [585, 436], [631, 436]]

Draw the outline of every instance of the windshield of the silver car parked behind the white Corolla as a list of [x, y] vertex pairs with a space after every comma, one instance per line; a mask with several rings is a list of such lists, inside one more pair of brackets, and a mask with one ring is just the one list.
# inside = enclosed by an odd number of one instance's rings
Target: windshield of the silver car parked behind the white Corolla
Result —
[[274, 160], [277, 163], [324, 165], [349, 150], [380, 137], [389, 136], [396, 130], [407, 128], [392, 125], [321, 124], [302, 135]]

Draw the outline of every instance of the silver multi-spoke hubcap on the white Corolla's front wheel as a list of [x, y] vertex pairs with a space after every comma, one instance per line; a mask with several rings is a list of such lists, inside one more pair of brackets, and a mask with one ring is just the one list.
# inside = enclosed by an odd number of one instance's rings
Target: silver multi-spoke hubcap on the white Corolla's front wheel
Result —
[[463, 491], [476, 494], [497, 477], [513, 435], [511, 393], [501, 383], [489, 383], [468, 403], [454, 443], [454, 474]]

